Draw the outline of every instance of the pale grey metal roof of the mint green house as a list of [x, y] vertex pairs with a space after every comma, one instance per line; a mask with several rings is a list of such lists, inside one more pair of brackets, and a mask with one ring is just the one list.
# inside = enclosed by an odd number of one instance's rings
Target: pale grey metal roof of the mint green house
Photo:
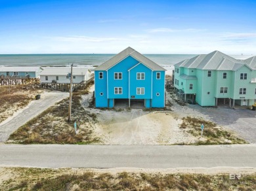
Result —
[[209, 54], [201, 54], [175, 64], [175, 66], [177, 67], [223, 71], [236, 71], [244, 65], [246, 65], [251, 70], [255, 70], [256, 56], [248, 58], [247, 60], [236, 60], [231, 56], [228, 56], [226, 54], [223, 54], [222, 52], [215, 50]]

